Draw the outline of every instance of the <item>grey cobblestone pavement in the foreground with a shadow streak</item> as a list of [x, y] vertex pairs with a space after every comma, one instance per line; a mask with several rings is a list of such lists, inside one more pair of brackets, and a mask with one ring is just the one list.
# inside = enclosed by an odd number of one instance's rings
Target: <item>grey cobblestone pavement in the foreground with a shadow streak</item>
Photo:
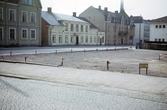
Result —
[[1, 110], [166, 110], [157, 95], [0, 77]]

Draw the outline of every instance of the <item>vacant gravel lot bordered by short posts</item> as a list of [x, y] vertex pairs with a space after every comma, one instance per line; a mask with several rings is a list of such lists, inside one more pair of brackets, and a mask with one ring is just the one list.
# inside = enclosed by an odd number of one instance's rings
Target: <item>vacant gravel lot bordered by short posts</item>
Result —
[[[109, 61], [109, 71], [131, 74], [139, 74], [139, 63], [148, 63], [148, 75], [167, 77], [167, 56], [163, 56], [159, 60], [159, 54], [167, 54], [167, 52], [156, 50], [117, 50], [3, 57], [4, 60], [21, 62], [24, 62], [25, 57], [27, 57], [27, 62], [29, 63], [42, 63], [53, 66], [59, 66], [63, 57], [64, 67], [101, 71], [106, 71], [106, 62]], [[2, 60], [2, 57], [0, 59]], [[141, 69], [141, 74], [146, 74], [144, 68]]]

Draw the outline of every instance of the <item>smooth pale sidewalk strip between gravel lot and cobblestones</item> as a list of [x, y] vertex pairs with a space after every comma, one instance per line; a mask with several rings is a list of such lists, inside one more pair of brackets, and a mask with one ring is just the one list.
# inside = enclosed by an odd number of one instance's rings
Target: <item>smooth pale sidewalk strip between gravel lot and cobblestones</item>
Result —
[[83, 86], [110, 87], [161, 95], [167, 99], [167, 78], [2, 62], [0, 62], [0, 75]]

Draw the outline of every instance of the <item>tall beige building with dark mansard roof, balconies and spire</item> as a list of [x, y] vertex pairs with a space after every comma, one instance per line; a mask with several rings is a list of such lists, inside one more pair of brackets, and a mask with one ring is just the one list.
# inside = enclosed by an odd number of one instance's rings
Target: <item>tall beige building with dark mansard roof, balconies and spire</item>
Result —
[[90, 6], [83, 11], [80, 17], [85, 17], [100, 31], [105, 32], [106, 45], [126, 45], [132, 44], [134, 37], [134, 22], [132, 16], [129, 17], [125, 10], [123, 1], [121, 1], [120, 12], [110, 12], [108, 8], [101, 9]]

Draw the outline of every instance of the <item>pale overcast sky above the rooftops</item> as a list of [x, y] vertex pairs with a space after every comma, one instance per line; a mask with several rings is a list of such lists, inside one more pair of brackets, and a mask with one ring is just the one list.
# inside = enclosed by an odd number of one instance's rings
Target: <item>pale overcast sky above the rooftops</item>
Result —
[[[121, 0], [41, 0], [42, 10], [52, 7], [52, 12], [77, 16], [84, 10], [93, 6], [102, 9], [108, 7], [111, 12], [120, 10]], [[146, 20], [152, 20], [167, 16], [167, 0], [124, 0], [125, 12], [130, 16], [142, 16]]]

